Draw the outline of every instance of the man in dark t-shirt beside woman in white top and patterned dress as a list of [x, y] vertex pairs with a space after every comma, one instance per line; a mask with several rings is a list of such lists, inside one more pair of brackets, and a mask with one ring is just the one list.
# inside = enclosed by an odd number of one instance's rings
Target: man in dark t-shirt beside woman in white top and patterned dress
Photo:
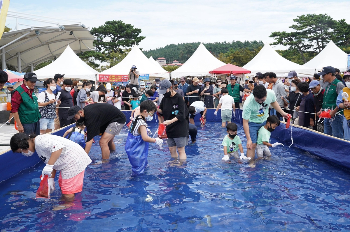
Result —
[[[58, 119], [59, 119], [59, 125], [61, 128], [63, 126], [68, 126], [72, 123], [72, 119], [68, 118], [68, 108], [73, 106], [73, 97], [70, 95], [70, 90], [72, 89], [73, 81], [69, 79], [65, 79], [63, 81], [62, 89], [58, 91], [58, 93], [61, 93], [59, 95], [59, 99], [61, 99], [61, 104], [59, 105], [58, 110]], [[57, 93], [57, 94], [58, 94]]]

